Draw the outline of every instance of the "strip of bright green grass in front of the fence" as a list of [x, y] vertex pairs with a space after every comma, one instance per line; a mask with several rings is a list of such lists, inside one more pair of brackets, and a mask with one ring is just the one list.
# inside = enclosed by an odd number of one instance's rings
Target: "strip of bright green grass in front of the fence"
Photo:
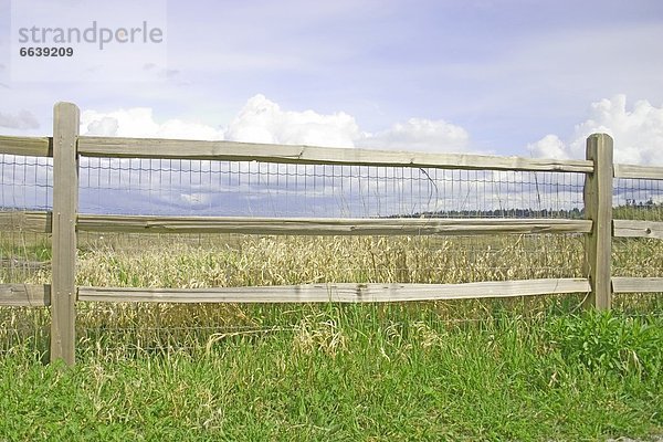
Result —
[[646, 436], [663, 433], [662, 351], [660, 317], [453, 325], [330, 305], [196, 351], [90, 348], [72, 369], [15, 348], [0, 358], [0, 440]]

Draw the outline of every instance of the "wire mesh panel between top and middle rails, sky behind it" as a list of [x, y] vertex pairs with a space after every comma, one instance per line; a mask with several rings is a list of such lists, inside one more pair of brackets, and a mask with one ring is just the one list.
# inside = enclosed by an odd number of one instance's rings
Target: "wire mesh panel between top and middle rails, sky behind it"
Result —
[[82, 158], [81, 211], [316, 218], [580, 218], [582, 173]]

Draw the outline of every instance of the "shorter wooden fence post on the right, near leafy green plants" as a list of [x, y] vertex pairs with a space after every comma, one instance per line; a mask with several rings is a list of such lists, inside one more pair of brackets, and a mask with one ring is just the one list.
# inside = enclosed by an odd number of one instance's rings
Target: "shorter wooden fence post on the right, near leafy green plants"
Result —
[[609, 309], [612, 301], [612, 138], [607, 134], [590, 135], [587, 159], [593, 161], [594, 171], [585, 180], [585, 215], [593, 221], [585, 244], [591, 285], [585, 306], [602, 311]]

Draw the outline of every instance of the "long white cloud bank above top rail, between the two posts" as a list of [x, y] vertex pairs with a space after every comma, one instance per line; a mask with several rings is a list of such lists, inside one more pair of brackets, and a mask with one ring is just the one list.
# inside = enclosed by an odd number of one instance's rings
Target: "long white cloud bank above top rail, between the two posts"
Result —
[[109, 113], [85, 110], [81, 116], [81, 134], [420, 151], [470, 150], [467, 131], [442, 119], [410, 118], [371, 134], [360, 131], [355, 118], [344, 112], [284, 110], [261, 94], [251, 97], [224, 130], [180, 119], [158, 123], [151, 108], [135, 107]]

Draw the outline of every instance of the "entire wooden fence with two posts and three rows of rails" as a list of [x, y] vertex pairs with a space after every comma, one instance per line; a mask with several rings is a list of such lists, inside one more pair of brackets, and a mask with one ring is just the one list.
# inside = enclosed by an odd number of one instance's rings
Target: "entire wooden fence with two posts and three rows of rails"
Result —
[[[586, 160], [529, 159], [454, 154], [417, 154], [78, 136], [80, 112], [71, 103], [54, 107], [53, 137], [0, 137], [0, 154], [53, 158], [52, 212], [0, 212], [0, 230], [52, 234], [52, 284], [1, 284], [2, 306], [50, 306], [51, 359], [74, 362], [77, 302], [316, 303], [407, 302], [587, 293], [587, 305], [610, 308], [613, 293], [663, 292], [663, 277], [613, 277], [612, 239], [663, 239], [663, 222], [612, 219], [613, 178], [663, 180], [663, 168], [614, 165], [612, 138], [587, 139]], [[302, 219], [246, 217], [98, 215], [77, 211], [78, 156], [259, 160], [305, 165], [434, 167], [444, 169], [580, 172], [586, 175], [586, 219]], [[586, 278], [540, 278], [465, 284], [304, 284], [204, 290], [78, 287], [76, 234], [95, 232], [231, 232], [255, 234], [536, 234], [586, 235]]]

